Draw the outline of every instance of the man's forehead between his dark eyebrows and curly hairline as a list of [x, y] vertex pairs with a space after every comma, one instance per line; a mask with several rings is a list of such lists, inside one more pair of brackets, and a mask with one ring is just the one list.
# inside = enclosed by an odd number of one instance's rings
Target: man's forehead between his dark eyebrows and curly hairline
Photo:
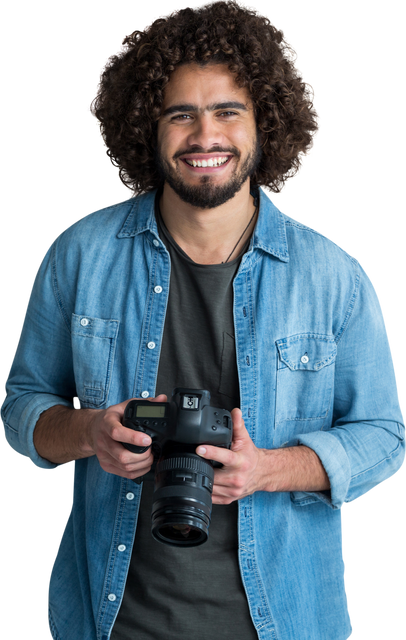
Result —
[[232, 94], [234, 97], [242, 98], [248, 106], [251, 105], [248, 90], [236, 84], [234, 74], [225, 64], [201, 67], [196, 63], [190, 63], [176, 67], [164, 90], [164, 106], [174, 99], [179, 102], [180, 94], [187, 94], [193, 100], [206, 100], [207, 97], [212, 100], [213, 95], [217, 99], [230, 97]]

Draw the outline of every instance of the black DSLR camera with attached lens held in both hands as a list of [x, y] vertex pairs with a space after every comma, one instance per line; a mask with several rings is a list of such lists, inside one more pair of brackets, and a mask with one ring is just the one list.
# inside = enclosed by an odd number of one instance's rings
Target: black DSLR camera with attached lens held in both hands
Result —
[[[214, 471], [223, 465], [195, 451], [199, 444], [231, 448], [233, 423], [225, 409], [210, 406], [210, 392], [176, 388], [170, 402], [131, 400], [123, 424], [152, 438], [154, 463], [149, 473], [135, 478], [154, 479], [151, 533], [158, 542], [196, 547], [209, 537]], [[122, 443], [133, 453], [148, 447]]]

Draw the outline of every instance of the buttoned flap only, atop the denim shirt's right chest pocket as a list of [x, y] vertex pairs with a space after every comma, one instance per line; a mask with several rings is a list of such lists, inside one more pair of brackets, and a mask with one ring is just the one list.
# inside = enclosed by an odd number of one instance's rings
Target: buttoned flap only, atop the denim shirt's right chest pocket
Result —
[[334, 337], [317, 333], [298, 333], [276, 341], [279, 357], [291, 371], [319, 371], [335, 360]]

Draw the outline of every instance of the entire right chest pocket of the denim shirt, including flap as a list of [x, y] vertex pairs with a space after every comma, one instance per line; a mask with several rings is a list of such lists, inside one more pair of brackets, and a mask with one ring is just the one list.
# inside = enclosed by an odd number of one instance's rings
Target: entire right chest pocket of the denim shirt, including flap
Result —
[[[276, 341], [279, 353], [275, 427], [284, 421], [322, 421], [334, 390], [337, 347], [331, 336], [302, 333]], [[297, 423], [296, 427], [300, 424]], [[296, 430], [296, 429], [295, 429]]]

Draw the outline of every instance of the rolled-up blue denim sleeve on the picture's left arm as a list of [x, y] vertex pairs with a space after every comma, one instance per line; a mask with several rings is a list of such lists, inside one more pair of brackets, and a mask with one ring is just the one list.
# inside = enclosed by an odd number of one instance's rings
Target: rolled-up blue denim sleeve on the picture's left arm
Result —
[[49, 243], [35, 270], [0, 408], [6, 446], [41, 471], [64, 466], [42, 458], [34, 447], [41, 413], [57, 404], [76, 408], [70, 319], [60, 294], [56, 244]]

